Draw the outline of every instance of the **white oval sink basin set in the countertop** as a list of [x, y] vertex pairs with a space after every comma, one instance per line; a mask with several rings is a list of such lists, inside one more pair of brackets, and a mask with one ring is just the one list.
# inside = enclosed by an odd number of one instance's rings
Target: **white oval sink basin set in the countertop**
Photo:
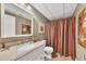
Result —
[[17, 46], [17, 51], [27, 51], [27, 50], [32, 50], [34, 48], [35, 48], [34, 43], [24, 43], [24, 44]]

